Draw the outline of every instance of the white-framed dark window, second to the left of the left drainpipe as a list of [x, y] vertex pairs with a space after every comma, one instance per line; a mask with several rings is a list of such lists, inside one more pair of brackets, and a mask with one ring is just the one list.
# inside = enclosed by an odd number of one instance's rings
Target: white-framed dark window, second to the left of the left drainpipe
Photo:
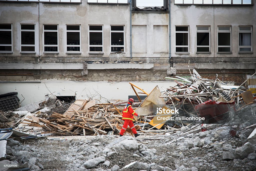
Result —
[[89, 52], [103, 52], [103, 26], [89, 26]]

